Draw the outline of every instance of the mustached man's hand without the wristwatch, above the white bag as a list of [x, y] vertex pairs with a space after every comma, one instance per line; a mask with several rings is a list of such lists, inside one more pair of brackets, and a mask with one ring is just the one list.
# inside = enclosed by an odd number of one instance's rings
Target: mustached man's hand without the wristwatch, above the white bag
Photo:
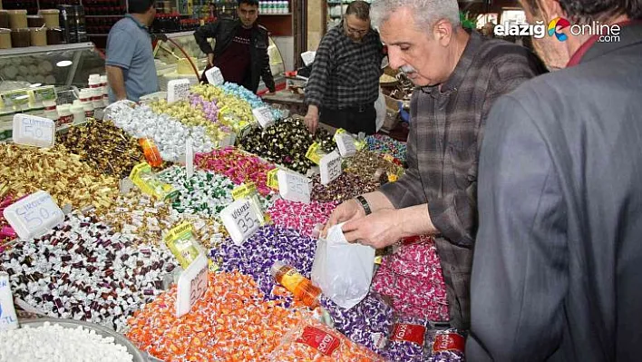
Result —
[[[355, 201], [356, 202], [356, 201]], [[393, 245], [404, 237], [398, 210], [384, 209], [365, 218], [346, 222], [342, 228], [345, 240], [369, 245], [375, 249]]]

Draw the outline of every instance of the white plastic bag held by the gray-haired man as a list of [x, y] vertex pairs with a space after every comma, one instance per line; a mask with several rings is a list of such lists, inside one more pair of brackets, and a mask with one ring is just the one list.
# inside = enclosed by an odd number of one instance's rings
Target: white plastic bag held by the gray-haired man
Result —
[[318, 240], [312, 281], [339, 307], [350, 309], [370, 290], [375, 249], [347, 242], [342, 226], [333, 226], [328, 230], [326, 240]]

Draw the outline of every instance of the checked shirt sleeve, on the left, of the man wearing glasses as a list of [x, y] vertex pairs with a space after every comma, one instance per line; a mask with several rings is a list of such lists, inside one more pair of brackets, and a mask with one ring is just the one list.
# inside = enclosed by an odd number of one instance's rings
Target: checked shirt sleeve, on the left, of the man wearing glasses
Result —
[[335, 36], [328, 32], [316, 49], [315, 63], [306, 84], [306, 105], [321, 107], [326, 93], [326, 85], [330, 79], [330, 71], [334, 67]]

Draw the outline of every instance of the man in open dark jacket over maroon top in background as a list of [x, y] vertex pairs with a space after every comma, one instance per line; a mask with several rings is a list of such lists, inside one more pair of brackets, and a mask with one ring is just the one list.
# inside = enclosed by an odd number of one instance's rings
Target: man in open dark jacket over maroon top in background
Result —
[[[270, 92], [275, 91], [269, 68], [268, 29], [257, 24], [258, 0], [238, 0], [238, 20], [219, 19], [194, 32], [200, 50], [208, 54], [209, 66], [216, 66], [223, 78], [257, 93], [259, 78]], [[208, 38], [216, 44], [212, 50]]]

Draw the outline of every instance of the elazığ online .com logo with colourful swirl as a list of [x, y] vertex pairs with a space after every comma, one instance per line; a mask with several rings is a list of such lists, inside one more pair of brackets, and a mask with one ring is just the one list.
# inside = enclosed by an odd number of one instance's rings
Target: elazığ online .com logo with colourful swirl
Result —
[[556, 17], [549, 22], [548, 26], [542, 21], [535, 24], [497, 24], [494, 33], [498, 36], [532, 36], [536, 39], [541, 39], [549, 34], [549, 36], [555, 36], [560, 42], [565, 42], [569, 39], [569, 35], [562, 33], [561, 30], [566, 28], [569, 28], [569, 33], [575, 36], [583, 34], [598, 35], [598, 42], [600, 43], [619, 41], [620, 27], [618, 24], [609, 25], [599, 22], [583, 25], [570, 24], [569, 20], [563, 17]]

